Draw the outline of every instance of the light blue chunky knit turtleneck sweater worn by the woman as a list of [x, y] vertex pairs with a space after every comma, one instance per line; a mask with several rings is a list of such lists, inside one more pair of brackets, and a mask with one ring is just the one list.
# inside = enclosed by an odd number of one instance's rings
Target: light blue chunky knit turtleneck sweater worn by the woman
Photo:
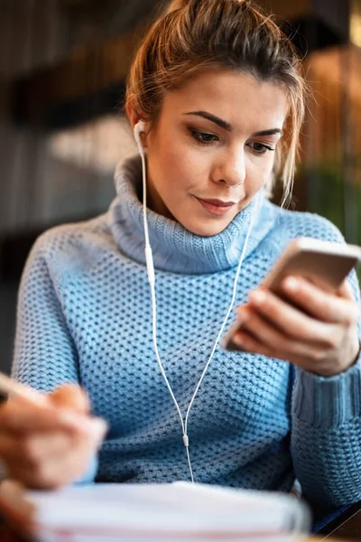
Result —
[[[98, 481], [189, 480], [180, 419], [153, 351], [140, 182], [140, 161], [127, 161], [105, 215], [35, 243], [19, 295], [14, 376], [40, 390], [79, 382], [88, 391], [110, 427]], [[227, 312], [253, 210], [251, 203], [210, 238], [148, 212], [158, 344], [183, 414]], [[262, 195], [236, 304], [299, 236], [344, 242], [328, 220]], [[355, 273], [349, 280], [359, 301]], [[321, 378], [218, 346], [190, 411], [195, 481], [290, 491], [297, 478], [311, 502], [360, 499], [360, 383], [359, 361]]]

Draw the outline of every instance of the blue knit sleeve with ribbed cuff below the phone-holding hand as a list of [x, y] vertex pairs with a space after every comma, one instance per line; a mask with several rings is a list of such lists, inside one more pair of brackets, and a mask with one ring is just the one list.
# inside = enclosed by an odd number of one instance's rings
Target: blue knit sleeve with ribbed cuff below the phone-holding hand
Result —
[[[357, 303], [355, 271], [349, 276]], [[358, 322], [358, 336], [360, 322]], [[331, 378], [296, 369], [292, 459], [302, 493], [315, 509], [361, 499], [361, 356]]]

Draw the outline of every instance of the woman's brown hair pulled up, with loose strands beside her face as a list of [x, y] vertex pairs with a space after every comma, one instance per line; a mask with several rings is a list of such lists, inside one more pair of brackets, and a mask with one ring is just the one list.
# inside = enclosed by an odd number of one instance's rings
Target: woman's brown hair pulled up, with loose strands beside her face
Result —
[[[155, 123], [166, 92], [208, 67], [242, 70], [280, 84], [289, 101], [287, 138], [278, 147], [282, 204], [292, 193], [307, 85], [292, 43], [250, 0], [173, 0], [143, 39], [129, 72], [126, 99]], [[266, 189], [271, 194], [270, 180]]]

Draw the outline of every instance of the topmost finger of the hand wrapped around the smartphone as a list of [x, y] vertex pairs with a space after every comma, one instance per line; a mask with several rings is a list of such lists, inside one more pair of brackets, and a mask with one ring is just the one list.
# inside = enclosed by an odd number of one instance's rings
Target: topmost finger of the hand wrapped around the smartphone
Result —
[[330, 294], [310, 281], [295, 276], [288, 276], [282, 281], [282, 290], [291, 301], [318, 320], [346, 324], [357, 322], [359, 309], [353, 299]]

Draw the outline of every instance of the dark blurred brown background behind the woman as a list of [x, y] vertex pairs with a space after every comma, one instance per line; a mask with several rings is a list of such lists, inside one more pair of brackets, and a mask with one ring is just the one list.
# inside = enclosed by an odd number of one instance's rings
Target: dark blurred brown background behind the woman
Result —
[[[166, 1], [0, 0], [0, 370], [34, 239], [107, 209], [135, 151], [125, 77]], [[361, 0], [259, 0], [299, 48], [314, 90], [292, 208], [361, 244]], [[277, 202], [277, 197], [275, 198]]]

